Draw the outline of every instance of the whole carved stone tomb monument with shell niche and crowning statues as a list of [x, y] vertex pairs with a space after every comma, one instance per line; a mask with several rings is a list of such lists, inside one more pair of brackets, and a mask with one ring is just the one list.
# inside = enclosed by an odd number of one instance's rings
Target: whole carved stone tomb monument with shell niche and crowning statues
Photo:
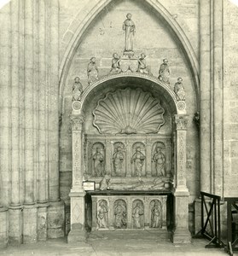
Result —
[[[173, 241], [190, 241], [185, 97], [171, 90], [164, 73], [159, 79], [149, 73], [144, 54], [140, 59], [134, 56], [136, 26], [131, 16], [126, 15], [123, 23], [124, 55], [113, 54], [112, 69], [102, 79], [91, 58], [89, 85], [73, 100], [68, 241], [84, 240], [85, 226], [91, 230], [165, 229], [173, 216]], [[95, 102], [96, 95], [100, 97]], [[96, 190], [88, 191], [86, 197], [83, 181], [96, 183]], [[168, 195], [175, 206], [170, 211]]]

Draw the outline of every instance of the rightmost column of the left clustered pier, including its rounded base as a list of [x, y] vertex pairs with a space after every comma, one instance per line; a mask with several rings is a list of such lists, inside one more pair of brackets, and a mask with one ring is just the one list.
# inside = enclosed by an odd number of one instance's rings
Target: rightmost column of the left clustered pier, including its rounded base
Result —
[[59, 1], [46, 1], [48, 45], [47, 58], [47, 88], [46, 110], [48, 113], [48, 152], [49, 152], [49, 208], [48, 236], [56, 238], [64, 236], [65, 210], [64, 202], [60, 200], [60, 170], [59, 170]]

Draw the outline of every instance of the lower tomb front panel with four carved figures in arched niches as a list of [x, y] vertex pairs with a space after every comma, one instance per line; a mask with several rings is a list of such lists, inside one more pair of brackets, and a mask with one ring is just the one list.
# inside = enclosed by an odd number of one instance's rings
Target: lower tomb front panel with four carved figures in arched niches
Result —
[[167, 195], [92, 195], [92, 230], [166, 229]]

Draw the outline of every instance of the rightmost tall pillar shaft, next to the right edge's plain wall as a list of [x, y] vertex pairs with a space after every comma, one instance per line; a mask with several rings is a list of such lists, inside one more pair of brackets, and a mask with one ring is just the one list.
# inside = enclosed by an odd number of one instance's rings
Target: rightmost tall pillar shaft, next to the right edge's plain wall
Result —
[[223, 196], [223, 0], [213, 0], [213, 193]]

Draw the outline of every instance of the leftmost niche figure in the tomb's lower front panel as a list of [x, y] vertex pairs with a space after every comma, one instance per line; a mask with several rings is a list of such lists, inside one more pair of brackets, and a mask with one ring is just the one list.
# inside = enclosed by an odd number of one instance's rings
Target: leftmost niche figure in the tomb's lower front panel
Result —
[[100, 200], [97, 202], [96, 220], [99, 229], [108, 228], [108, 206], [106, 200]]

